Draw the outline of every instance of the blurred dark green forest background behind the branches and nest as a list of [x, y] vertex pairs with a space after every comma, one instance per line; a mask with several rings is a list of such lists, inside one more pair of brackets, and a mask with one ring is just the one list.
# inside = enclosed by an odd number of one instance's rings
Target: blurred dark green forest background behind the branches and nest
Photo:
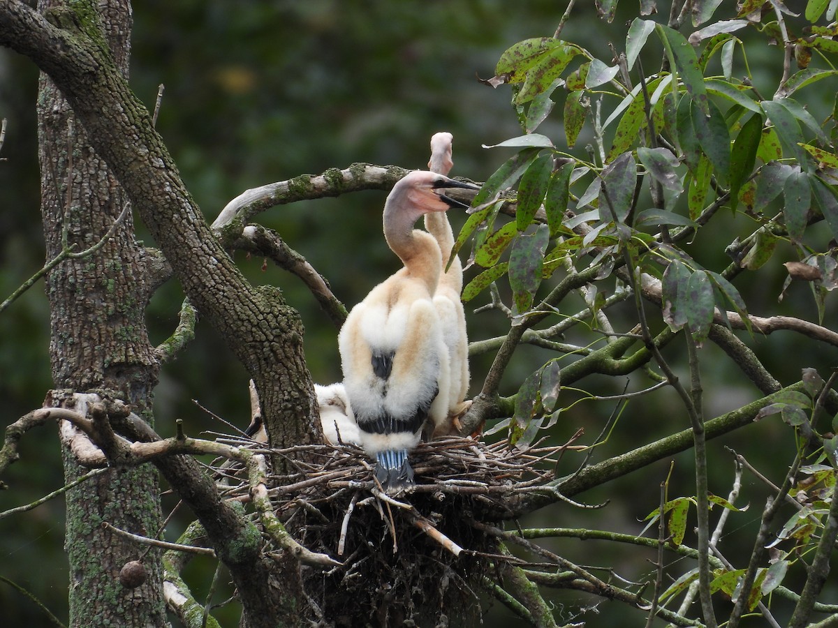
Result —
[[[634, 17], [636, 3], [623, 3], [624, 13], [618, 13], [612, 24], [597, 18], [593, 3], [577, 4], [564, 36], [600, 59], [611, 59], [608, 42], [623, 49], [624, 24]], [[436, 131], [454, 135], [452, 174], [484, 180], [511, 152], [485, 150], [481, 145], [520, 135], [520, 127], [510, 109], [509, 90], [493, 90], [476, 77], [494, 75], [494, 64], [511, 44], [552, 35], [564, 6], [549, 0], [515, 4], [500, 0], [154, 0], [135, 8], [131, 84], [149, 109], [154, 106], [158, 85], [165, 85], [158, 130], [210, 222], [245, 189], [303, 172], [318, 173], [351, 162], [425, 167], [428, 140]], [[782, 71], [779, 49], [762, 46], [749, 52], [748, 60], [756, 79], [766, 85], [776, 83]], [[650, 60], [649, 67], [655, 63], [658, 61]], [[0, 117], [8, 119], [0, 152], [4, 159], [0, 162], [0, 298], [8, 296], [44, 263], [34, 120], [37, 78], [36, 69], [27, 59], [0, 49]], [[564, 142], [561, 104], [560, 99], [556, 112], [539, 130], [560, 146]], [[815, 102], [814, 106], [821, 104]], [[590, 141], [584, 133], [589, 130], [583, 131], [579, 147]], [[260, 221], [282, 234], [351, 306], [398, 265], [380, 237], [384, 198], [384, 193], [368, 192], [295, 203], [262, 214]], [[452, 222], [457, 230], [463, 217], [454, 215]], [[721, 217], [712, 229], [727, 243], [737, 234], [747, 235], [753, 224], [730, 215]], [[153, 245], [142, 225], [138, 225], [137, 234], [147, 245]], [[713, 239], [710, 233], [706, 241], [712, 244]], [[722, 270], [729, 263], [718, 241], [716, 246], [707, 246], [703, 258], [696, 255], [712, 270]], [[239, 255], [238, 261], [251, 281], [282, 287], [287, 301], [301, 312], [308, 367], [314, 381], [339, 380], [336, 330], [308, 291], [296, 277], [282, 270], [270, 265], [262, 270], [261, 259]], [[778, 306], [776, 296], [784, 280], [778, 266], [759, 270], [755, 281], [749, 283], [751, 287], [739, 286], [751, 310], [766, 314], [797, 312], [814, 318], [815, 308], [804, 286], [793, 286]], [[181, 299], [176, 281], [168, 282], [154, 297], [147, 312], [153, 342], [162, 342], [173, 331]], [[482, 303], [483, 297], [476, 305]], [[582, 301], [577, 306], [581, 308]], [[834, 307], [827, 306], [827, 316], [834, 316]], [[478, 317], [469, 314], [472, 339], [498, 335], [506, 325], [497, 312]], [[770, 344], [755, 342], [760, 358], [775, 369], [783, 383], [799, 378], [801, 367], [829, 368], [835, 363], [834, 351], [807, 354], [791, 334], [772, 338]], [[0, 399], [4, 401], [0, 425], [4, 426], [39, 407], [51, 387], [49, 315], [42, 281], [0, 315], [0, 343]], [[680, 346], [670, 350], [667, 357], [677, 361], [679, 353]], [[541, 350], [523, 347], [504, 378], [501, 393], [514, 393], [525, 375], [548, 357]], [[716, 347], [708, 345], [702, 358], [706, 364], [708, 416], [758, 396], [753, 386], [738, 374], [732, 375], [736, 371]], [[473, 360], [473, 392], [488, 365], [488, 357]], [[592, 378], [584, 385], [603, 394], [615, 394], [623, 383], [624, 379], [615, 382]], [[197, 339], [162, 370], [156, 391], [158, 431], [173, 434], [177, 418], [184, 420], [190, 434], [228, 431], [199, 409], [193, 399], [225, 420], [246, 425], [246, 384], [241, 365], [215, 332], [199, 323]], [[643, 385], [641, 381], [632, 382], [633, 389]], [[662, 403], [641, 401], [629, 406], [628, 415], [612, 440], [597, 451], [595, 460], [687, 427], [685, 420], [673, 425], [676, 414], [671, 409], [679, 408], [675, 396], [660, 398], [664, 399]], [[583, 426], [592, 439], [612, 409], [581, 404], [568, 414], [556, 437], [564, 440]], [[782, 430], [761, 430], [758, 436], [742, 430], [726, 442], [756, 450], [757, 461], [773, 461], [777, 479], [783, 469], [778, 465], [793, 456], [793, 443]], [[755, 443], [755, 439], [760, 442]], [[61, 485], [53, 428], [29, 435], [22, 453], [23, 460], [3, 477], [12, 490], [0, 492], [0, 511], [30, 502]], [[732, 460], [722, 450], [722, 443], [711, 444], [710, 456], [711, 490], [727, 494]], [[691, 452], [676, 457], [678, 474], [672, 487], [676, 494], [694, 492], [691, 457]], [[650, 469], [653, 476], [644, 476], [645, 483], [637, 476], [628, 476], [583, 496], [592, 503], [610, 500], [602, 511], [592, 514], [560, 506], [539, 513], [534, 522], [638, 533], [643, 525], [638, 520], [657, 507], [658, 484], [667, 467], [668, 463], [662, 461]], [[765, 495], [763, 488], [750, 480], [746, 491], [754, 512], [742, 517], [738, 524], [741, 529], [731, 528], [727, 537], [729, 546], [741, 546], [742, 552], [749, 551], [753, 543], [754, 521]], [[170, 500], [164, 502], [164, 507], [172, 505]], [[176, 520], [170, 536], [176, 537], [187, 520], [185, 516]], [[0, 576], [32, 590], [61, 618], [66, 617], [67, 587], [63, 536], [60, 499], [0, 521]], [[654, 558], [651, 552], [644, 556], [634, 549], [592, 543], [566, 540], [547, 545], [585, 564], [611, 564], [630, 579], [642, 579], [651, 569], [644, 563], [645, 558]], [[607, 550], [608, 555], [597, 556], [599, 548]], [[194, 578], [196, 592], [209, 586], [212, 569], [214, 565], [198, 561], [190, 567], [188, 578]], [[834, 591], [832, 595], [835, 597]], [[222, 599], [224, 595], [217, 597]], [[614, 625], [609, 623], [614, 617], [625, 620], [627, 613], [618, 605], [575, 593], [556, 595], [555, 603], [559, 608], [557, 620], [585, 619], [589, 625]], [[576, 615], [589, 606], [597, 608]], [[3, 625], [49, 625], [34, 605], [4, 584], [0, 584], [0, 615], [11, 622]], [[642, 625], [640, 614], [632, 620]], [[229, 621], [235, 625], [235, 620]], [[510, 615], [495, 603], [485, 622], [509, 624]]]

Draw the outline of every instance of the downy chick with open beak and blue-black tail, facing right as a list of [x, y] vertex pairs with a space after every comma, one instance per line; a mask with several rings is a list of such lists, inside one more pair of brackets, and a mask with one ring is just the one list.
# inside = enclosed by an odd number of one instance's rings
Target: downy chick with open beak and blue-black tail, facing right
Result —
[[442, 253], [431, 234], [413, 229], [422, 215], [461, 205], [444, 188], [473, 188], [433, 172], [411, 172], [384, 207], [387, 245], [404, 265], [349, 312], [338, 345], [344, 386], [361, 446], [375, 456], [375, 478], [388, 492], [413, 483], [407, 452], [448, 413], [450, 369], [433, 296]]

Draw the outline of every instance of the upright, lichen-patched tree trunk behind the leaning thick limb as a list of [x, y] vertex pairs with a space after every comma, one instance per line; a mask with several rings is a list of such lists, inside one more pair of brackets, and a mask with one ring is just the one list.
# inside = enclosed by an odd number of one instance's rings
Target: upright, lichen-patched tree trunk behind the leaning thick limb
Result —
[[[39, 4], [43, 11], [53, 3]], [[108, 44], [126, 73], [130, 4], [108, 0], [99, 7]], [[127, 196], [46, 75], [40, 79], [38, 115], [41, 212], [51, 260], [65, 245], [74, 246], [75, 252], [95, 245], [122, 213]], [[56, 389], [113, 391], [137, 414], [151, 416], [158, 364], [143, 320], [147, 300], [143, 274], [143, 252], [133, 237], [130, 210], [100, 250], [65, 260], [49, 273], [50, 357]], [[60, 397], [55, 394], [54, 401], [60, 403]], [[85, 473], [66, 449], [64, 461], [66, 481]], [[102, 528], [102, 522], [157, 536], [161, 517], [153, 467], [107, 471], [68, 493], [70, 625], [166, 625], [159, 553], [141, 555], [136, 543]], [[126, 589], [120, 584], [120, 569], [137, 559], [145, 564], [148, 578], [137, 589]]]

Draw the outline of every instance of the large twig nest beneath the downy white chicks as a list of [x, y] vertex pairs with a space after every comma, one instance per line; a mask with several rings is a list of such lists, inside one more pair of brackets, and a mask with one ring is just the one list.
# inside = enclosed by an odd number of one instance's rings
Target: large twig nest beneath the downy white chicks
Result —
[[[526, 493], [555, 493], [545, 484], [565, 447], [521, 451], [507, 440], [463, 437], [422, 443], [411, 452], [416, 486], [400, 496], [380, 491], [373, 461], [354, 445], [265, 450], [295, 470], [268, 476], [277, 517], [303, 546], [340, 563], [303, 567], [315, 615], [336, 626], [370, 618], [383, 626], [476, 625], [480, 593], [510, 559], [484, 526], [509, 518], [510, 504]], [[236, 482], [230, 494], [246, 495], [246, 481]], [[266, 542], [266, 552], [275, 549]], [[452, 608], [456, 618], [443, 612]]]

